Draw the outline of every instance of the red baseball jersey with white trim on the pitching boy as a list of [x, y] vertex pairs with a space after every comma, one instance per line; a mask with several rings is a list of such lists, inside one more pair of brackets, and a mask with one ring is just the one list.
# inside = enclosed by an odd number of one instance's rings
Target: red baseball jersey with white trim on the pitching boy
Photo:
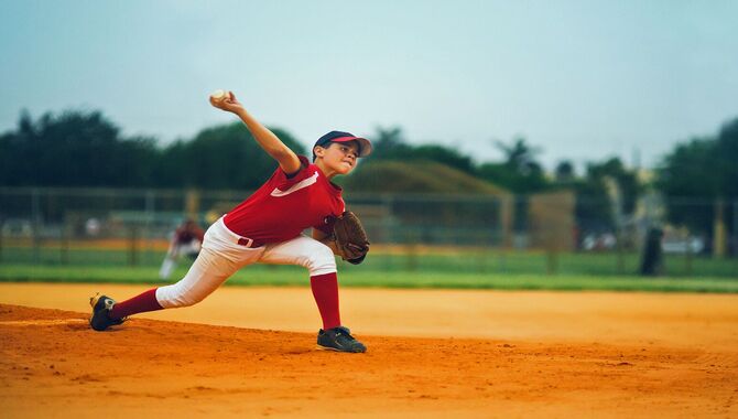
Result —
[[257, 192], [231, 210], [224, 223], [231, 232], [257, 244], [297, 237], [305, 228], [332, 233], [334, 217], [346, 207], [341, 189], [299, 155], [303, 169], [287, 178], [281, 168]]

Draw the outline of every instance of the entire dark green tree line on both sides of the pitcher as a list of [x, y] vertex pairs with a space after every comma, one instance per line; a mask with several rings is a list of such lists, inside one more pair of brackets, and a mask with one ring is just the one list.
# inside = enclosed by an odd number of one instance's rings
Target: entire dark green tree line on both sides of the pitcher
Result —
[[[295, 152], [308, 151], [289, 131], [271, 129]], [[546, 174], [538, 160], [540, 150], [524, 138], [496, 142], [503, 159], [479, 163], [451, 147], [412, 144], [400, 128], [378, 128], [371, 139], [372, 161], [432, 161], [518, 195], [573, 190], [577, 223], [587, 229], [611, 230], [618, 216], [633, 213], [638, 197], [647, 190], [668, 198], [671, 222], [699, 232], [710, 232], [714, 202], [723, 200], [730, 214], [736, 211], [732, 201], [738, 200], [738, 118], [725, 123], [717, 136], [675, 146], [651, 182], [643, 182], [618, 158], [589, 162], [584, 173], [576, 173], [571, 161], [562, 161], [553, 174]], [[191, 139], [162, 146], [152, 137], [123, 137], [99, 111], [46, 112], [37, 119], [22, 112], [18, 127], [0, 135], [3, 186], [254, 190], [275, 166], [241, 122], [209, 127]], [[392, 179], [386, 182], [388, 187], [392, 183]], [[614, 187], [618, 205], [612, 202]], [[684, 204], [696, 200], [704, 205]]]

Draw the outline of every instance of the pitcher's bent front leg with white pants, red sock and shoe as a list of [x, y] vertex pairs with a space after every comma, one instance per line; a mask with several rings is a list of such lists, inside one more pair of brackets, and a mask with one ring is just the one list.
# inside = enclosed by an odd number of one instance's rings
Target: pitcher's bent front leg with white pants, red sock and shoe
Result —
[[305, 267], [310, 272], [311, 290], [323, 320], [318, 345], [341, 352], [366, 352], [366, 346], [341, 325], [336, 258], [329, 247], [311, 237], [300, 236], [268, 245], [259, 262]]

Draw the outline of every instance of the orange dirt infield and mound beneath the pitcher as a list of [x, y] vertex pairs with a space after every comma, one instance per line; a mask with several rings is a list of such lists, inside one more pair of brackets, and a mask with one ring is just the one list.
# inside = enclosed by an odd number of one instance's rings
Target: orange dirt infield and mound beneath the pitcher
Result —
[[344, 289], [349, 355], [314, 350], [307, 288], [106, 333], [97, 290], [145, 288], [0, 284], [2, 418], [738, 417], [738, 296]]

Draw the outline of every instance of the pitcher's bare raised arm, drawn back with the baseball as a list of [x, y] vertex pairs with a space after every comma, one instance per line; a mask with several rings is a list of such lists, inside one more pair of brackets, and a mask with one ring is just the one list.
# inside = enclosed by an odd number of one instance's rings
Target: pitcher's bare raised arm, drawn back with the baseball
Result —
[[241, 118], [259, 146], [261, 146], [272, 159], [276, 160], [284, 173], [292, 174], [300, 170], [302, 163], [300, 162], [300, 159], [297, 159], [297, 154], [284, 144], [284, 142], [282, 142], [282, 140], [280, 140], [272, 131], [252, 117], [251, 114], [246, 110], [243, 105], [236, 99], [236, 95], [234, 95], [232, 92], [226, 93], [223, 98], [210, 97], [210, 105], [218, 109], [232, 112]]

